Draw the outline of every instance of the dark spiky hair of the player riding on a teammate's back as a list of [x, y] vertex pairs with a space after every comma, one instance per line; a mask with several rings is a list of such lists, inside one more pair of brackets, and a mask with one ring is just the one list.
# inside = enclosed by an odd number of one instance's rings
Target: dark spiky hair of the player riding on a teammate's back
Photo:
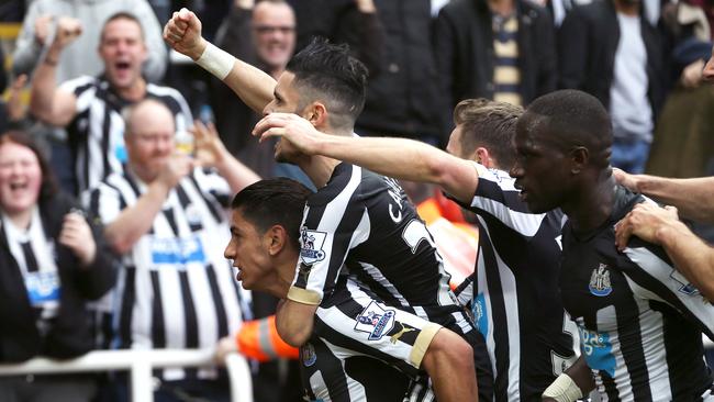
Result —
[[323, 101], [328, 108], [330, 123], [336, 129], [352, 130], [365, 107], [368, 72], [361, 62], [349, 55], [349, 46], [313, 38], [286, 69], [295, 75], [301, 108], [314, 100]]

